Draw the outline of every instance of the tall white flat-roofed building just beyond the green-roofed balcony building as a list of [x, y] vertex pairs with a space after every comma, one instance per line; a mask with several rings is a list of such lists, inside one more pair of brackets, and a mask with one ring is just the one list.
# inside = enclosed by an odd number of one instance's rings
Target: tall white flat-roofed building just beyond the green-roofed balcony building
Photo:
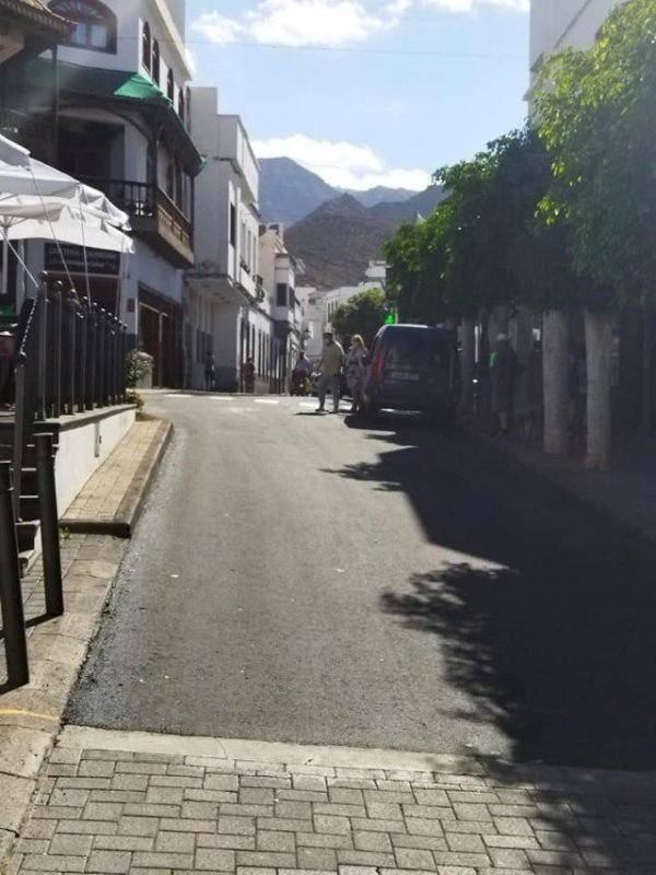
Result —
[[220, 115], [214, 88], [191, 89], [191, 133], [206, 165], [196, 187], [196, 267], [187, 273], [189, 385], [215, 360], [216, 388], [243, 388], [253, 359], [258, 392], [276, 388], [276, 324], [259, 268], [259, 167], [238, 116]]

